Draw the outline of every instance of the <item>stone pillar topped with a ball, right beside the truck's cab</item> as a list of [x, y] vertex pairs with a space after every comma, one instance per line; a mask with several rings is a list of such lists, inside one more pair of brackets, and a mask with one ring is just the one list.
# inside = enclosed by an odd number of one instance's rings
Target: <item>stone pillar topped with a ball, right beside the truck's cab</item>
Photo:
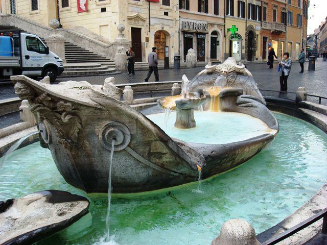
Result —
[[45, 40], [49, 50], [58, 55], [65, 63], [65, 38], [58, 32], [59, 21], [57, 19], [50, 20], [50, 26], [54, 29], [49, 37]]

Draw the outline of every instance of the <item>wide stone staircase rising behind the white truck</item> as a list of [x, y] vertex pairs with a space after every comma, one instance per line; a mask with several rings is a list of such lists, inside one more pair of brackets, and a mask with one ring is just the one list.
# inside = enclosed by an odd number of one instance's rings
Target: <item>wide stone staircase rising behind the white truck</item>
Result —
[[[0, 33], [27, 32], [14, 26], [1, 26]], [[40, 37], [42, 42], [44, 38]], [[90, 52], [74, 43], [65, 42], [65, 71], [62, 76], [109, 74], [115, 71], [115, 63], [106, 57]], [[78, 64], [77, 64], [78, 63]]]

